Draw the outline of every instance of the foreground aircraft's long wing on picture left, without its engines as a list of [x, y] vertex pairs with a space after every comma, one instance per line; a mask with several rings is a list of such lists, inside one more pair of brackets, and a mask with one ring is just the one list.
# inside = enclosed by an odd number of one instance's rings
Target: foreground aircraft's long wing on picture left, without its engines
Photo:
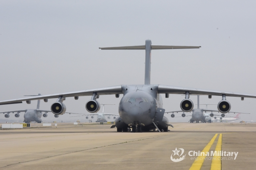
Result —
[[111, 87], [104, 87], [104, 88], [96, 88], [91, 90], [82, 90], [77, 92], [58, 93], [58, 94], [50, 94], [50, 95], [42, 95], [42, 96], [32, 96], [29, 98], [20, 98], [20, 99], [14, 99], [14, 100], [5, 100], [5, 101], [1, 101], [0, 105], [18, 104], [18, 103], [22, 103], [23, 101], [29, 101], [29, 100], [53, 99], [53, 98], [59, 98], [59, 96], [62, 96], [64, 98], [77, 97], [77, 96], [92, 96], [94, 92], [96, 92], [97, 95], [123, 94], [122, 86], [119, 85], [119, 86], [111, 86]]

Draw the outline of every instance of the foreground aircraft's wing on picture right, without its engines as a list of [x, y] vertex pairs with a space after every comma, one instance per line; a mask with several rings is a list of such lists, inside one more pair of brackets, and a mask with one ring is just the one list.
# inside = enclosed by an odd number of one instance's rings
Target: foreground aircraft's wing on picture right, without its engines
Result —
[[241, 94], [241, 93], [233, 93], [233, 92], [224, 92], [224, 91], [214, 91], [214, 90], [202, 90], [196, 88], [184, 88], [184, 87], [174, 87], [174, 86], [166, 86], [166, 85], [158, 85], [158, 93], [160, 94], [185, 94], [185, 92], [189, 92], [189, 94], [194, 95], [212, 95], [212, 96], [222, 96], [225, 94], [226, 96], [231, 97], [241, 97], [241, 98], [256, 98], [256, 95], [252, 94]]

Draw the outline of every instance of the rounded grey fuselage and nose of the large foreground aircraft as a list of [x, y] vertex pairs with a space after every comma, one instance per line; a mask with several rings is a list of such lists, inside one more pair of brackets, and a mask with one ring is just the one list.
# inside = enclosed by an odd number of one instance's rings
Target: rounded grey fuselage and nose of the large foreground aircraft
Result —
[[[144, 127], [152, 125], [156, 109], [163, 106], [161, 95], [157, 93], [157, 86], [127, 85], [122, 86], [122, 91], [124, 96], [118, 108], [121, 121], [129, 126], [131, 124], [141, 124]], [[165, 128], [168, 122], [164, 117], [158, 125]]]

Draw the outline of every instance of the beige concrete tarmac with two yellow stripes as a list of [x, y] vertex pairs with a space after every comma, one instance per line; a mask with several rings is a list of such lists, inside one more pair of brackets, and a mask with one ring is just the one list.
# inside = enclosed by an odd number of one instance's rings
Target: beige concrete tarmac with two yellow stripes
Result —
[[[256, 123], [172, 125], [161, 133], [116, 132], [96, 123], [0, 130], [0, 170], [256, 169]], [[192, 155], [220, 150], [220, 156]], [[238, 153], [234, 160], [224, 152]]]

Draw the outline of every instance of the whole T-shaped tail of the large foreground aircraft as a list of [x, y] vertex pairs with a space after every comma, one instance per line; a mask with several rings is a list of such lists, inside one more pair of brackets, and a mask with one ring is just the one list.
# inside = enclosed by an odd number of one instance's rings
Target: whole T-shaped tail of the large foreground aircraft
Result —
[[145, 50], [145, 80], [144, 84], [150, 84], [150, 70], [151, 70], [151, 50], [162, 49], [199, 49], [201, 46], [173, 46], [173, 45], [152, 45], [151, 40], [147, 39], [145, 45], [137, 46], [123, 46], [123, 47], [103, 47], [102, 50]]

